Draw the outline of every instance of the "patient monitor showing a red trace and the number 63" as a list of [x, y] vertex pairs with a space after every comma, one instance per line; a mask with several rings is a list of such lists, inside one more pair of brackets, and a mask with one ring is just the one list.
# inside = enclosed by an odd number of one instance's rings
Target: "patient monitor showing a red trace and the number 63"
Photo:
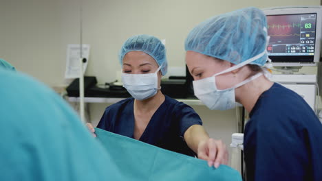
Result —
[[321, 6], [266, 8], [264, 13], [273, 66], [314, 66], [320, 61]]

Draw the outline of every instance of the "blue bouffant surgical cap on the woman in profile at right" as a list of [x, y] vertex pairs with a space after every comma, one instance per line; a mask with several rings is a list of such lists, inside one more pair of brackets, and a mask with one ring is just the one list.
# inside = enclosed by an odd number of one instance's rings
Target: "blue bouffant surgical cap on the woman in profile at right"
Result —
[[[266, 16], [258, 8], [220, 14], [193, 28], [185, 49], [239, 64], [266, 51], [266, 28]], [[250, 64], [263, 66], [267, 59], [265, 53]]]

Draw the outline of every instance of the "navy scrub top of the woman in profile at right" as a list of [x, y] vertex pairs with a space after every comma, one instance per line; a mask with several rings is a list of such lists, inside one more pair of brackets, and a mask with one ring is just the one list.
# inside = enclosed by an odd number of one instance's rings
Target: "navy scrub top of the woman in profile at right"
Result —
[[322, 124], [292, 90], [273, 84], [244, 134], [247, 180], [322, 180]]

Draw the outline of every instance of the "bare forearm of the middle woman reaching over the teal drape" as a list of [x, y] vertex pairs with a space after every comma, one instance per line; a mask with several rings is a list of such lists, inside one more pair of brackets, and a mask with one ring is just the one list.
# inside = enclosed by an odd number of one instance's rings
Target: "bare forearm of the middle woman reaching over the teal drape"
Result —
[[196, 154], [198, 153], [199, 143], [208, 139], [208, 133], [206, 132], [206, 130], [204, 130], [204, 127], [202, 125], [192, 125], [184, 133], [184, 140]]

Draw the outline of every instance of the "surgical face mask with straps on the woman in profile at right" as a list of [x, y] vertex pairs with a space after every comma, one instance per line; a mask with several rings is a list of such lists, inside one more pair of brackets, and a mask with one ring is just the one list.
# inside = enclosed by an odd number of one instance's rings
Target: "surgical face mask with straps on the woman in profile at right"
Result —
[[221, 75], [224, 73], [228, 73], [235, 69], [239, 69], [250, 62], [261, 58], [262, 56], [266, 55], [267, 51], [263, 51], [259, 53], [259, 55], [250, 58], [241, 64], [237, 64], [234, 67], [230, 67], [220, 73], [216, 73], [211, 77], [204, 78], [202, 80], [195, 80], [193, 81], [193, 90], [195, 91], [195, 96], [202, 101], [209, 109], [211, 110], [228, 110], [235, 108], [236, 101], [235, 101], [235, 88], [247, 84], [248, 82], [255, 80], [257, 77], [264, 75], [264, 73], [257, 73], [252, 77], [240, 82], [239, 84], [233, 86], [232, 88], [227, 88], [224, 90], [219, 90], [216, 86], [216, 76]]

